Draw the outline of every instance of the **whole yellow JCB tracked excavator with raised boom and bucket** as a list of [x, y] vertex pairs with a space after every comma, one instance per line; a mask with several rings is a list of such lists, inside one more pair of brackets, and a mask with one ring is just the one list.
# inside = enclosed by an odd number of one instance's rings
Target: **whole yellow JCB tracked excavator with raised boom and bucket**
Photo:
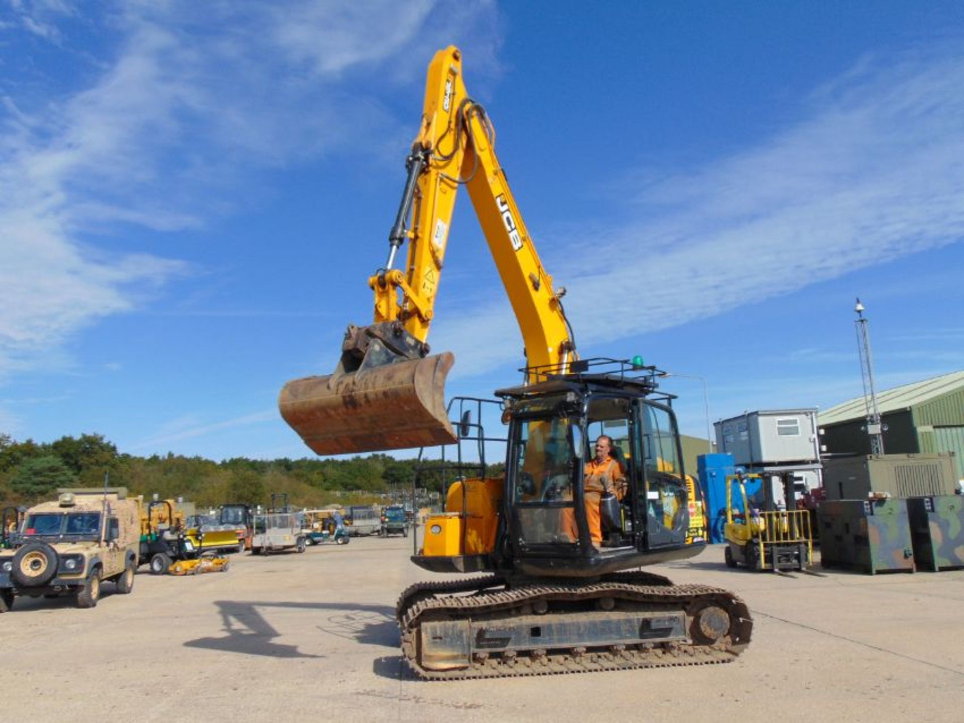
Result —
[[[466, 91], [460, 51], [440, 51], [388, 260], [368, 280], [374, 321], [348, 326], [334, 374], [284, 386], [281, 415], [319, 454], [451, 444], [470, 426], [453, 427], [445, 407], [453, 355], [429, 355], [427, 344], [466, 186], [522, 332], [523, 383], [495, 393], [508, 427], [504, 476], [453, 482], [412, 557], [434, 572], [488, 574], [405, 590], [396, 609], [404, 658], [428, 679], [729, 661], [750, 640], [746, 605], [638, 569], [705, 547], [688, 535], [671, 397], [656, 391], [656, 370], [641, 359], [578, 357], [564, 292], [539, 260], [494, 144], [489, 116]], [[625, 470], [619, 497], [583, 489], [603, 434]], [[587, 514], [588, 504], [599, 513]]]

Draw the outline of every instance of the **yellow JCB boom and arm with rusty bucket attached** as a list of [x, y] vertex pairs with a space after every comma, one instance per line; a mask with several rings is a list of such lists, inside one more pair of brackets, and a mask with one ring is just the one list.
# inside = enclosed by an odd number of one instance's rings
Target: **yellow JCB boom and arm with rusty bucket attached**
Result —
[[[522, 332], [526, 364], [565, 372], [576, 358], [569, 323], [495, 156], [495, 131], [462, 77], [454, 46], [429, 65], [424, 112], [406, 159], [408, 177], [388, 236], [385, 268], [368, 279], [373, 322], [350, 324], [335, 373], [288, 382], [281, 416], [318, 454], [449, 444], [444, 382], [451, 352], [430, 355], [442, 265], [465, 185]], [[408, 242], [404, 270], [395, 269]], [[538, 379], [531, 379], [537, 381]]]

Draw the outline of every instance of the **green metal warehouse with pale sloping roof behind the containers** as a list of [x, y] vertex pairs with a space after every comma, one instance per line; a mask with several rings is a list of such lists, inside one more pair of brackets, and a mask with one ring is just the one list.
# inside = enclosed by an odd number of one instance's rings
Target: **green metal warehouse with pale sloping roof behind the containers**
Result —
[[[964, 478], [964, 372], [952, 372], [877, 393], [884, 452], [953, 452]], [[817, 423], [826, 452], [870, 454], [867, 405], [863, 397], [821, 412]]]

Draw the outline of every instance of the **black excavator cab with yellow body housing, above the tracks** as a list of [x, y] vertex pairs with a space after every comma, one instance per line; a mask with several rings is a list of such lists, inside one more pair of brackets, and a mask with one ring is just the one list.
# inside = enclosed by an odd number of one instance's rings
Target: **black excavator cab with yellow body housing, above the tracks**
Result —
[[[438, 572], [584, 578], [698, 554], [704, 544], [688, 536], [676, 419], [667, 398], [648, 399], [654, 389], [651, 376], [565, 374], [497, 392], [509, 426], [506, 477], [449, 488], [415, 563]], [[626, 477], [618, 495], [584, 489], [601, 434], [612, 439]], [[480, 538], [488, 544], [459, 539], [473, 526], [492, 530]]]

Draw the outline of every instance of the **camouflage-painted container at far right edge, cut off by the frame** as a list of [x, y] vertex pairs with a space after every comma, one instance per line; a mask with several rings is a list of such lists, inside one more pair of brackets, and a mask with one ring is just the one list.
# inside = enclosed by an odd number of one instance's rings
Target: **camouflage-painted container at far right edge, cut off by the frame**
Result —
[[914, 558], [922, 570], [964, 567], [964, 497], [917, 497], [907, 501]]

